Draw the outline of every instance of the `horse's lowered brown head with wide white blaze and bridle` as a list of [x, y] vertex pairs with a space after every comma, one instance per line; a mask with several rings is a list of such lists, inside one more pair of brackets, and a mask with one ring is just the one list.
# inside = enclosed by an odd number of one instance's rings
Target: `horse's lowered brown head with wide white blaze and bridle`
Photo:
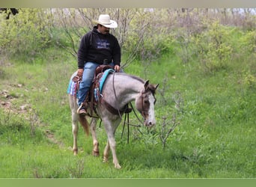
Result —
[[144, 89], [135, 99], [135, 107], [144, 117], [145, 126], [154, 126], [156, 124], [154, 105], [156, 103], [155, 91], [158, 85], [151, 85], [147, 80], [144, 83]]

